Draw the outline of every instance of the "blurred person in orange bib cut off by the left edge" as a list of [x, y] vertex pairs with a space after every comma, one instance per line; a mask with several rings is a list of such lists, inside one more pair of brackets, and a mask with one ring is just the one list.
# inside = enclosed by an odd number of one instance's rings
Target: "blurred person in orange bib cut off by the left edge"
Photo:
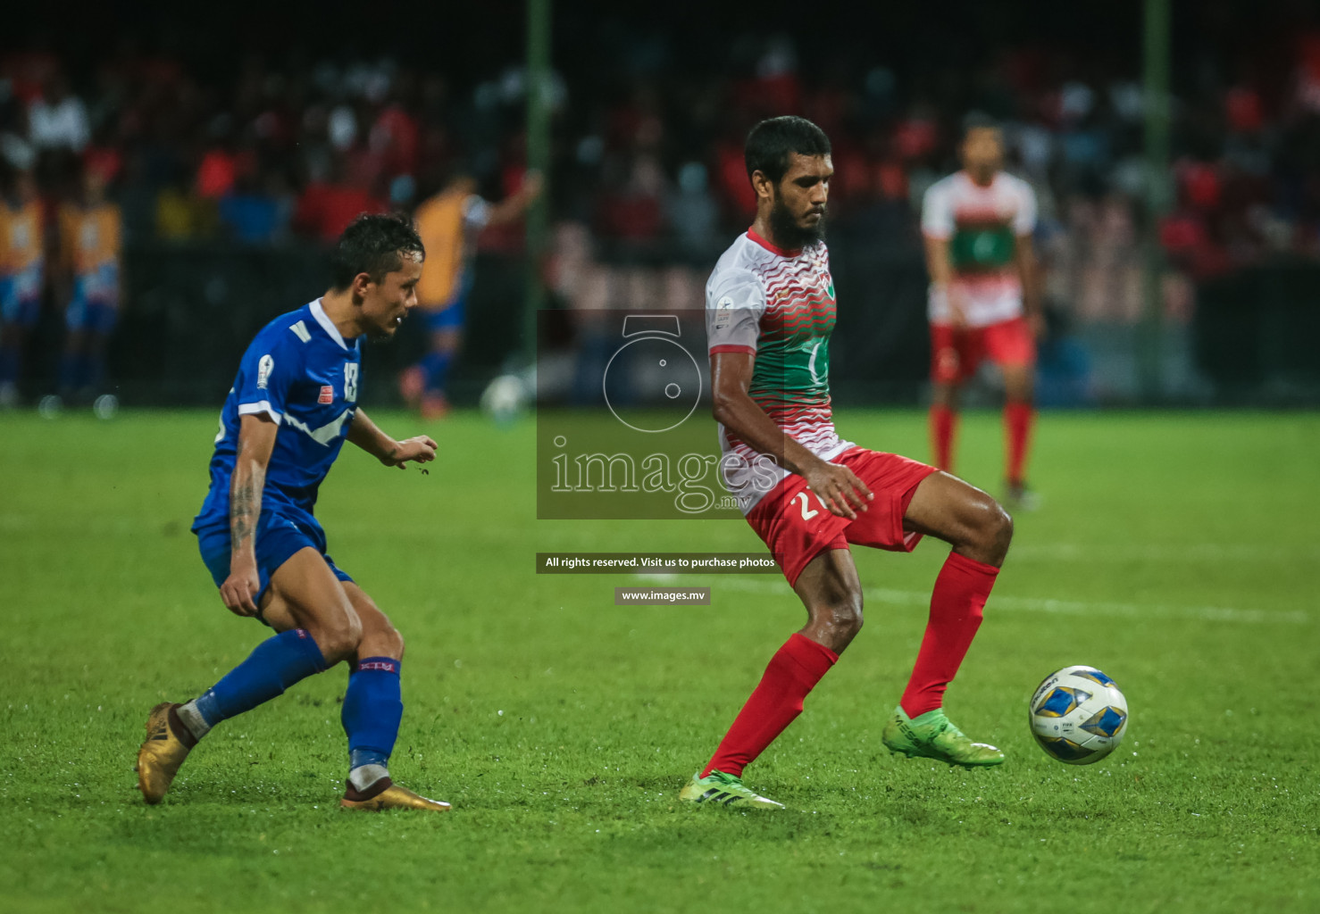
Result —
[[45, 244], [37, 181], [21, 170], [0, 204], [0, 408], [18, 401], [22, 347], [41, 315]]

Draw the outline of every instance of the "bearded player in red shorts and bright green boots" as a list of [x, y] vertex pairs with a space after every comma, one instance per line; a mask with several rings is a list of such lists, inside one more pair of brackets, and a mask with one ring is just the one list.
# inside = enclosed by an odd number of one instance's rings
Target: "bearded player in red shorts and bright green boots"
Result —
[[942, 711], [944, 690], [981, 625], [1012, 521], [985, 492], [935, 467], [842, 441], [829, 397], [834, 284], [824, 243], [830, 145], [801, 117], [747, 137], [756, 222], [706, 284], [721, 472], [807, 607], [807, 625], [771, 658], [706, 766], [690, 802], [780, 808], [742, 782], [743, 768], [801, 714], [803, 700], [862, 628], [850, 545], [909, 551], [929, 534], [953, 546], [907, 690], [884, 725], [898, 753], [998, 765]]

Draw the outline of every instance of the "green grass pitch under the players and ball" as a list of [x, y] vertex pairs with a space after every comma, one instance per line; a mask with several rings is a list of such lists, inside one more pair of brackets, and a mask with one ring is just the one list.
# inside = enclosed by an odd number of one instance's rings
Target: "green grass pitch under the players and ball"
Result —
[[[421, 427], [379, 417], [395, 434]], [[841, 430], [927, 454], [915, 411]], [[345, 814], [343, 669], [207, 737], [143, 806], [147, 710], [264, 629], [187, 533], [214, 413], [0, 415], [0, 907], [11, 911], [1320, 910], [1320, 417], [1045, 414], [1044, 508], [1016, 537], [950, 716], [1008, 762], [891, 757], [880, 727], [945, 549], [858, 553], [867, 625], [748, 772], [777, 814], [678, 807], [801, 624], [781, 579], [713, 605], [612, 605], [627, 576], [536, 576], [536, 551], [758, 549], [733, 522], [537, 522], [533, 425], [459, 413], [430, 475], [346, 448], [330, 551], [408, 638], [393, 773], [446, 816]], [[966, 417], [994, 491], [998, 417]], [[693, 579], [697, 583], [700, 579]], [[1067, 663], [1133, 708], [1090, 768], [1031, 741]]]

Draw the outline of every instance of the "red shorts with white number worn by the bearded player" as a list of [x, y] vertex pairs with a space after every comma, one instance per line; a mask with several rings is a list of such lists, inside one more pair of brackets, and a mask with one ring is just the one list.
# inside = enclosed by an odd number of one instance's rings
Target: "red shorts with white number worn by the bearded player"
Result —
[[936, 472], [935, 467], [865, 447], [845, 451], [830, 463], [851, 470], [875, 496], [866, 510], [857, 512], [855, 521], [832, 514], [797, 473], [784, 477], [747, 514], [751, 529], [770, 546], [789, 584], [796, 584], [807, 563], [826, 549], [847, 549], [854, 543], [911, 553], [921, 539], [920, 533], [903, 529], [903, 516], [917, 483]]

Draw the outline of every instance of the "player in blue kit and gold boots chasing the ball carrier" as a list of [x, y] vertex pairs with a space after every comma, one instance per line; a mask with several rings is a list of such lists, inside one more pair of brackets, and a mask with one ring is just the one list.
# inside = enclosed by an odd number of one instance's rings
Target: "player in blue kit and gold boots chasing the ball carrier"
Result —
[[347, 661], [341, 719], [348, 782], [341, 806], [449, 808], [389, 779], [404, 710], [403, 637], [326, 554], [312, 513], [346, 439], [400, 470], [436, 456], [430, 438], [395, 441], [358, 408], [362, 338], [393, 336], [417, 305], [424, 257], [407, 220], [359, 216], [339, 237], [330, 290], [268, 323], [243, 355], [193, 532], [224, 605], [276, 634], [199, 698], [152, 708], [137, 753], [148, 803], [165, 797], [187, 753], [218, 723]]

